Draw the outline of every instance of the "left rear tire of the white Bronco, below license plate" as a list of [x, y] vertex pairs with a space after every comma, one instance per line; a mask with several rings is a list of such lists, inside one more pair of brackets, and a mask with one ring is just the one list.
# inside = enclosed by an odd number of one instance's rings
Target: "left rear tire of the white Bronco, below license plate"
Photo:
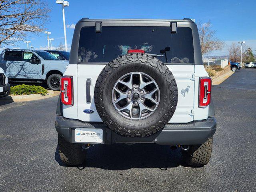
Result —
[[58, 135], [60, 160], [67, 165], [80, 165], [86, 157], [86, 150], [82, 151], [82, 145], [69, 143]]

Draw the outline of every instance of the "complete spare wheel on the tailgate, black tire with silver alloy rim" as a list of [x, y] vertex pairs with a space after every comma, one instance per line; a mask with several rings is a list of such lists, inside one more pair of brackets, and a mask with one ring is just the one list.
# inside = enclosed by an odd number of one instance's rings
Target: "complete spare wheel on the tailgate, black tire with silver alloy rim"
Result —
[[164, 128], [178, 101], [172, 72], [157, 58], [133, 53], [112, 60], [98, 76], [94, 101], [102, 121], [127, 137]]

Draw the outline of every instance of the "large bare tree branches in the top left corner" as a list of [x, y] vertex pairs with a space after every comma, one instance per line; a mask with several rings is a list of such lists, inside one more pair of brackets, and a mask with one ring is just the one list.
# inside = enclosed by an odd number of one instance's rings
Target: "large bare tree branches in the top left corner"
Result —
[[43, 0], [0, 0], [0, 46], [42, 32], [49, 12]]

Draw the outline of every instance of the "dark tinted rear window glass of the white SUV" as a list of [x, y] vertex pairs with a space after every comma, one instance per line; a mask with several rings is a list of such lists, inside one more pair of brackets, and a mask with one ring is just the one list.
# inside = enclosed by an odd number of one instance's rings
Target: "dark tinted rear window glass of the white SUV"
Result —
[[162, 55], [157, 57], [162, 62], [194, 63], [190, 28], [178, 27], [177, 33], [172, 34], [170, 27], [130, 26], [102, 27], [101, 33], [96, 33], [95, 27], [82, 28], [78, 62], [110, 62], [127, 54], [129, 49], [143, 49], [146, 53]]

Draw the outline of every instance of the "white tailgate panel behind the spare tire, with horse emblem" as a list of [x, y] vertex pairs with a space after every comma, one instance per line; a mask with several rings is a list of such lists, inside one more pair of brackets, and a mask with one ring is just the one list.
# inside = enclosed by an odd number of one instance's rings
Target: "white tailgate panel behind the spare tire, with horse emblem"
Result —
[[[102, 122], [94, 104], [94, 86], [105, 64], [78, 64], [77, 114], [84, 122]], [[170, 122], [190, 122], [194, 116], [194, 65], [168, 65], [178, 86], [178, 105]], [[93, 70], [92, 70], [93, 68]], [[86, 102], [86, 81], [90, 80], [90, 102]], [[93, 110], [85, 113], [84, 110]]]

